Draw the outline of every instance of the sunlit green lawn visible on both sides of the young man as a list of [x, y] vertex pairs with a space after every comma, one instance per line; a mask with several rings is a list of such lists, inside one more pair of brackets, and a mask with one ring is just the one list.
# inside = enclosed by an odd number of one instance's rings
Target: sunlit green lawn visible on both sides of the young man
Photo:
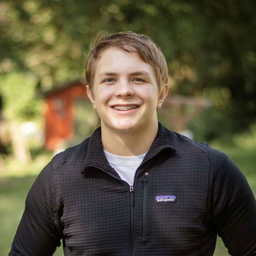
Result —
[[[213, 145], [230, 158], [243, 171], [256, 195], [255, 156], [256, 149], [239, 149], [238, 147], [224, 147]], [[27, 168], [25, 165], [8, 163], [8, 168], [0, 172], [0, 255], [8, 255], [11, 243], [20, 218], [24, 211], [26, 195], [41, 168], [48, 162], [50, 156], [40, 156]], [[14, 170], [15, 169], [15, 170]], [[26, 170], [25, 170], [26, 169]], [[214, 256], [227, 256], [227, 249], [218, 238]], [[62, 248], [57, 248], [54, 256], [63, 256]]]

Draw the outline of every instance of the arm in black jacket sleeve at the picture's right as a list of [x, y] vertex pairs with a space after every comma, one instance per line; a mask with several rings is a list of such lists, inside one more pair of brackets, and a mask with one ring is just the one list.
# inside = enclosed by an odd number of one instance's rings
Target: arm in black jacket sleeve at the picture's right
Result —
[[245, 176], [220, 152], [210, 166], [212, 225], [230, 255], [256, 255], [256, 202]]

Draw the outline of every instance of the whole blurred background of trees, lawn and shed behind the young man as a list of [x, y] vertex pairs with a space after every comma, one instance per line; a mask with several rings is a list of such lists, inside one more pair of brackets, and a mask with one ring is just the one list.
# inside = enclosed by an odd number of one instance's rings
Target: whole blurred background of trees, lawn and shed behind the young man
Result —
[[[40, 170], [99, 125], [84, 66], [100, 30], [135, 31], [160, 46], [170, 93], [159, 120], [227, 153], [256, 194], [252, 0], [1, 0], [1, 255], [10, 251]], [[214, 255], [228, 255], [220, 240]]]

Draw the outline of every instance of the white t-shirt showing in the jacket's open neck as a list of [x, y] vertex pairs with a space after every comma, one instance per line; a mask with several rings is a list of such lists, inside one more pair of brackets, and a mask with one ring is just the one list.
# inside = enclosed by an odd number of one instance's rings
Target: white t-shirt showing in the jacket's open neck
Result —
[[139, 156], [116, 156], [104, 150], [108, 163], [116, 170], [122, 180], [133, 185], [135, 171], [141, 164], [145, 154]]

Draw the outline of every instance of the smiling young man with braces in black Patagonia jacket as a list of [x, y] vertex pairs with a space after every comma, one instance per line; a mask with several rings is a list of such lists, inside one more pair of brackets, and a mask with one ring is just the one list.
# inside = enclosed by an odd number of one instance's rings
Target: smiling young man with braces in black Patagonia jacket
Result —
[[246, 178], [206, 143], [157, 122], [168, 93], [163, 53], [146, 36], [97, 38], [87, 93], [101, 128], [56, 155], [29, 191], [10, 256], [256, 255]]

